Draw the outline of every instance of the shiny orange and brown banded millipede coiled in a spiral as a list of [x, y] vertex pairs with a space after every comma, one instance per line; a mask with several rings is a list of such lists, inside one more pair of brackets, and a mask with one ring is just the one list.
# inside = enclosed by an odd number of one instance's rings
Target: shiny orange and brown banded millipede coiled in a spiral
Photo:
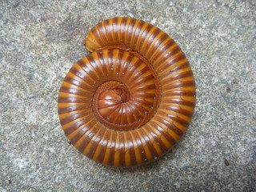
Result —
[[194, 113], [190, 64], [166, 33], [134, 18], [110, 18], [86, 36], [92, 53], [62, 82], [58, 114], [70, 142], [110, 166], [165, 154]]

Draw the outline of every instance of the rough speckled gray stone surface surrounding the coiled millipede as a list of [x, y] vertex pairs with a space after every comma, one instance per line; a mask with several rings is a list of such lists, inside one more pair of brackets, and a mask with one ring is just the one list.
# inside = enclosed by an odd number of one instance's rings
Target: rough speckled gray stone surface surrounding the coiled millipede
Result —
[[[255, 191], [255, 15], [254, 0], [2, 0], [0, 191]], [[57, 114], [62, 79], [88, 54], [83, 37], [114, 16], [170, 34], [198, 87], [182, 141], [157, 162], [130, 169], [83, 157]]]

